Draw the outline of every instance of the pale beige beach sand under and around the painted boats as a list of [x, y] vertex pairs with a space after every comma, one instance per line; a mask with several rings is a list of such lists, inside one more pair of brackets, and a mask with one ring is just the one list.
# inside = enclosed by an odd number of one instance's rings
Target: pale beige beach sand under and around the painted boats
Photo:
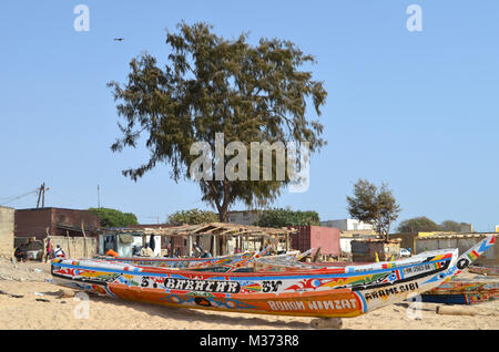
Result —
[[[462, 273], [469, 277], [476, 275]], [[124, 302], [88, 296], [58, 298], [61, 287], [50, 279], [50, 265], [0, 259], [0, 329], [2, 330], [315, 330], [315, 318], [213, 312]], [[43, 293], [43, 296], [35, 294]], [[44, 299], [47, 301], [37, 301]], [[357, 318], [343, 319], [348, 330], [497, 330], [499, 300], [473, 306], [477, 315], [440, 315], [439, 304], [421, 303], [410, 309], [399, 303]], [[85, 310], [88, 307], [88, 310]]]

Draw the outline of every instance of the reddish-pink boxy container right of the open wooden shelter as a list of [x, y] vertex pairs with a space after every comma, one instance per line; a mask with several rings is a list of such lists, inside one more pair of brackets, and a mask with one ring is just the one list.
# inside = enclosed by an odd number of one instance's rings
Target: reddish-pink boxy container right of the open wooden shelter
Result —
[[327, 226], [296, 226], [297, 234], [292, 236], [292, 248], [306, 251], [318, 249], [324, 256], [339, 257], [339, 229]]

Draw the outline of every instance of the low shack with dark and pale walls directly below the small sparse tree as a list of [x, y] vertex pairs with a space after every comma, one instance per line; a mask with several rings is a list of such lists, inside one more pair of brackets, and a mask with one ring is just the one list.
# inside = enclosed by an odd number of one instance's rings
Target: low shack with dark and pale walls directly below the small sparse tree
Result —
[[387, 261], [393, 256], [398, 258], [400, 250], [399, 240], [353, 240], [350, 246], [353, 260], [360, 262]]

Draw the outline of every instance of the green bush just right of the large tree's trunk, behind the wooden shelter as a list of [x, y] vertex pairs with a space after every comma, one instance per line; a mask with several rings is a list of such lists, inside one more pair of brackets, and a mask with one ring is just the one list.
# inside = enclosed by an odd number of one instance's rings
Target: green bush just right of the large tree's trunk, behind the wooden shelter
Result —
[[289, 209], [262, 210], [257, 226], [285, 227], [299, 225], [319, 225], [319, 216], [316, 211], [301, 211]]

